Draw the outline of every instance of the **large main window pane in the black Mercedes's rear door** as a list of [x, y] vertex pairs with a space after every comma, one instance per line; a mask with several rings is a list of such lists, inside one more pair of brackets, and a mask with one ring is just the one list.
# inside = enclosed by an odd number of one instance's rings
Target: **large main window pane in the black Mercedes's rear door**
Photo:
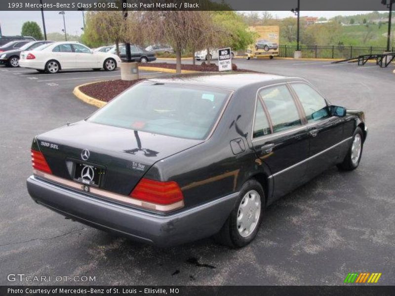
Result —
[[302, 125], [295, 101], [285, 85], [264, 88], [259, 94], [272, 119], [273, 132]]

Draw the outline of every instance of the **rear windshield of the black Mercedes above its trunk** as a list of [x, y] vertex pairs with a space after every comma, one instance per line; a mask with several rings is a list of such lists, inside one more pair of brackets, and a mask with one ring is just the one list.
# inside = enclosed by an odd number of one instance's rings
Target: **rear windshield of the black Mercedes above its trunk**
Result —
[[229, 91], [175, 84], [140, 83], [87, 119], [187, 139], [205, 139]]

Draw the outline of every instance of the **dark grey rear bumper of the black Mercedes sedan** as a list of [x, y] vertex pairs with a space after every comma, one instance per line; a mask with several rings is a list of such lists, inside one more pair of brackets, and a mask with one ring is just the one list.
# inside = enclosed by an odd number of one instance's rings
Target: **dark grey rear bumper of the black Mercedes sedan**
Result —
[[133, 240], [169, 247], [217, 233], [231, 213], [237, 193], [171, 215], [157, 215], [91, 197], [35, 176], [27, 180], [37, 203], [73, 220]]

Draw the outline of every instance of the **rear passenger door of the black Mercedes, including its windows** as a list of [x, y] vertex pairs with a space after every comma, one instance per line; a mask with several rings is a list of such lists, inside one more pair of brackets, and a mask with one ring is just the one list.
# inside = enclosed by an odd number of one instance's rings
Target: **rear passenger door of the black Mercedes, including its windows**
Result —
[[253, 146], [270, 168], [274, 198], [302, 184], [309, 152], [307, 127], [286, 83], [258, 91]]

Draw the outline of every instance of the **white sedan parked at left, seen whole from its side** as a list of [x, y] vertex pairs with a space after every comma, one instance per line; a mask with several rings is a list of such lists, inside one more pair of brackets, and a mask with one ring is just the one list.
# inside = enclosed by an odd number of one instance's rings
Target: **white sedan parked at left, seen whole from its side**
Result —
[[36, 69], [49, 74], [59, 70], [93, 69], [114, 71], [120, 58], [108, 52], [94, 52], [79, 42], [54, 42], [34, 50], [22, 51], [20, 67]]

